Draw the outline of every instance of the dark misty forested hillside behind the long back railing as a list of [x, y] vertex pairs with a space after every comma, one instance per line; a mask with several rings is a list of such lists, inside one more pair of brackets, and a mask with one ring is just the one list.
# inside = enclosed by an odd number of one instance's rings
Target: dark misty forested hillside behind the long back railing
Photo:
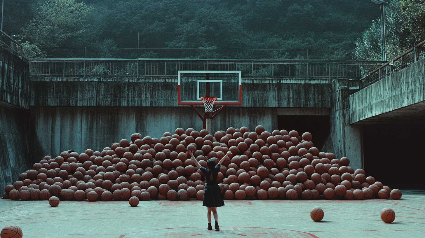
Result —
[[21, 7], [5, 17], [16, 24], [6, 28], [24, 33], [36, 57], [40, 49], [46, 57], [135, 58], [139, 34], [139, 57], [305, 59], [308, 49], [309, 59], [352, 59], [356, 39], [379, 17], [366, 0], [14, 2]]

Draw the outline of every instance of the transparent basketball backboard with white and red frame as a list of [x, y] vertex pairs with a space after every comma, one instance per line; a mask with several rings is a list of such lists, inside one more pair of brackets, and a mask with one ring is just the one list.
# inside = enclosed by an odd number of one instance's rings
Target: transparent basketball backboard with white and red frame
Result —
[[241, 71], [178, 71], [178, 105], [204, 105], [205, 96], [217, 97], [215, 105], [242, 105]]

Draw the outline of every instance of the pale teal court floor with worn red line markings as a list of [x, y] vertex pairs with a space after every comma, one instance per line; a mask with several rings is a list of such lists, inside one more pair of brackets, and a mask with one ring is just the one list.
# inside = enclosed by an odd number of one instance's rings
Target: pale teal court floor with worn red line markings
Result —
[[[16, 224], [23, 237], [144, 238], [144, 237], [423, 237], [425, 191], [403, 190], [400, 200], [243, 200], [219, 207], [220, 231], [207, 230], [207, 209], [201, 201], [48, 201], [0, 199], [0, 227]], [[310, 210], [321, 207], [320, 222]], [[380, 219], [383, 208], [396, 213], [395, 221]], [[212, 221], [212, 224], [214, 221]]]

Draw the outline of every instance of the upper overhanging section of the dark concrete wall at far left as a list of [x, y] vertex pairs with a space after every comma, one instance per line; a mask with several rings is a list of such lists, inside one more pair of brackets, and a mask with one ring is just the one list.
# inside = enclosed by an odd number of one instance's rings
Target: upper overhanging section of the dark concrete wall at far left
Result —
[[28, 109], [28, 63], [0, 47], [0, 104]]

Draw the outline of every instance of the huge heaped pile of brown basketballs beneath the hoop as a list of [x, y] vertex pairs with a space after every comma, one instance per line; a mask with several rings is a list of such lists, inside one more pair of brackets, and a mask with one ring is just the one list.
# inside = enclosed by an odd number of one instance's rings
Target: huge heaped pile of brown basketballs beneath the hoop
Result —
[[[5, 187], [4, 199], [77, 201], [202, 200], [205, 176], [189, 156], [191, 150], [206, 167], [227, 151], [218, 183], [225, 199], [399, 199], [362, 169], [353, 170], [349, 159], [314, 147], [312, 135], [297, 131], [266, 131], [263, 126], [229, 127], [211, 135], [188, 128], [166, 132], [161, 138], [139, 133], [102, 151], [64, 151], [45, 156], [32, 169]], [[52, 205], [52, 206], [53, 206]]]

